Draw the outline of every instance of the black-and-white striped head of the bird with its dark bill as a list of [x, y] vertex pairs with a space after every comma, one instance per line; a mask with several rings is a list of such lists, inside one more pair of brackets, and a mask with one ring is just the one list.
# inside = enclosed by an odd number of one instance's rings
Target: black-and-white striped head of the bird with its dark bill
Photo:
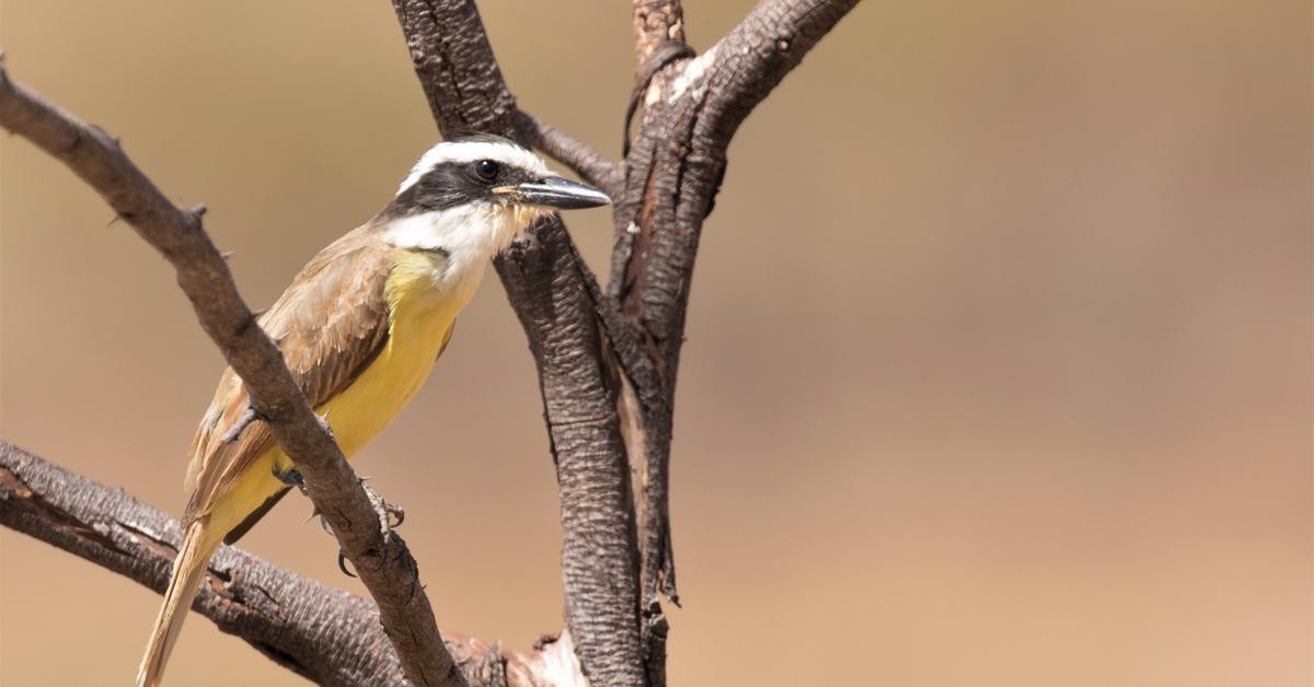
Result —
[[552, 173], [523, 146], [481, 134], [430, 148], [382, 217], [397, 246], [474, 257], [506, 248], [544, 214], [610, 202], [606, 193]]

